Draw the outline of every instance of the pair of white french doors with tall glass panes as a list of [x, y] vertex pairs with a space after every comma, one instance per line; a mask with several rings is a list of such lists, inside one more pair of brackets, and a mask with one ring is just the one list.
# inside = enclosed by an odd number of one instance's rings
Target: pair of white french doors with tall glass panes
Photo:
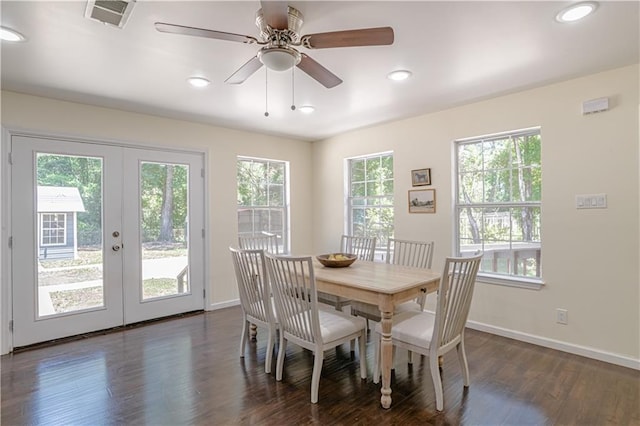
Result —
[[13, 346], [204, 308], [200, 154], [12, 136]]

